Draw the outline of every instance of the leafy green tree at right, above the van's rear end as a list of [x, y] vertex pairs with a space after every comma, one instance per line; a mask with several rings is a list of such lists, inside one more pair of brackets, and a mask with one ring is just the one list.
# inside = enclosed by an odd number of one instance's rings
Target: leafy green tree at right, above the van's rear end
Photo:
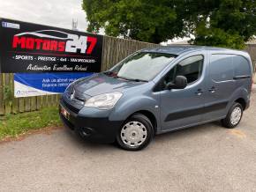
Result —
[[211, 5], [205, 14], [192, 21], [195, 23], [192, 32], [195, 39], [192, 42], [197, 45], [245, 48], [245, 42], [256, 33], [256, 2], [220, 0]]

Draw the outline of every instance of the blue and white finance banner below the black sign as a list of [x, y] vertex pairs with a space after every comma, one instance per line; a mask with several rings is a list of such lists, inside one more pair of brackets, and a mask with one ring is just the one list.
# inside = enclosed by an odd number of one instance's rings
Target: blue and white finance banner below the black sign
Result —
[[92, 73], [15, 73], [14, 97], [31, 97], [48, 94], [59, 94], [78, 78]]

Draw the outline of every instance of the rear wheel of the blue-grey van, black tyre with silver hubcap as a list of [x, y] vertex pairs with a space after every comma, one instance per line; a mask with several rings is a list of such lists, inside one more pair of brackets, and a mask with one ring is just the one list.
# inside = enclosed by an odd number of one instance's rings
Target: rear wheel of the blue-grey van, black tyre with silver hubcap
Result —
[[225, 119], [222, 119], [222, 125], [225, 128], [235, 128], [239, 124], [243, 116], [243, 107], [240, 103], [235, 102]]

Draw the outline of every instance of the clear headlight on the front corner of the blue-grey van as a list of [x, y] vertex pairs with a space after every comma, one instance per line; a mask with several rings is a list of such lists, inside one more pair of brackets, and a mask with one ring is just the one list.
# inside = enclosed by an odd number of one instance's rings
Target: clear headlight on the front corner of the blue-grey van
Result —
[[109, 109], [116, 105], [122, 97], [121, 92], [109, 92], [96, 95], [85, 102], [85, 107], [96, 107], [99, 109]]

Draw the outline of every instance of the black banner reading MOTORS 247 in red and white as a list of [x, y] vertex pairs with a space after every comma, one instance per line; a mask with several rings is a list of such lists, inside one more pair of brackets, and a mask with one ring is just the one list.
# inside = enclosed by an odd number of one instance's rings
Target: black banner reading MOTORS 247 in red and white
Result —
[[102, 35], [0, 19], [0, 72], [99, 72]]

